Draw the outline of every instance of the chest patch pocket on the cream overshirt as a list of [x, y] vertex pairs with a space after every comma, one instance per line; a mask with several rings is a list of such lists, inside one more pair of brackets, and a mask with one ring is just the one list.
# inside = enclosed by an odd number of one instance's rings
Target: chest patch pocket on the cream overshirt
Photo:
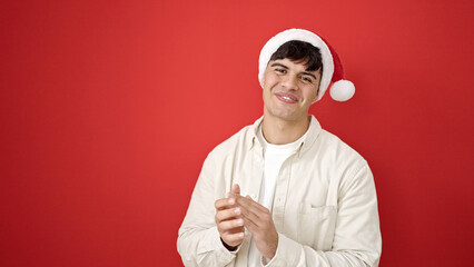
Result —
[[298, 243], [316, 250], [327, 251], [333, 247], [336, 228], [336, 207], [302, 202], [298, 209]]

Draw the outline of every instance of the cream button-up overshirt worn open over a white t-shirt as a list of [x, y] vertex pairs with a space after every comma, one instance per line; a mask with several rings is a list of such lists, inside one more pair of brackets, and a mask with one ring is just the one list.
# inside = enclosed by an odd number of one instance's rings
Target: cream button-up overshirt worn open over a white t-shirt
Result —
[[[237, 251], [220, 241], [214, 202], [234, 184], [258, 199], [264, 157], [258, 119], [206, 158], [179, 229], [186, 266], [247, 266], [249, 233]], [[312, 117], [302, 146], [282, 165], [273, 219], [278, 248], [266, 266], [378, 266], [382, 238], [374, 178], [364, 158]]]

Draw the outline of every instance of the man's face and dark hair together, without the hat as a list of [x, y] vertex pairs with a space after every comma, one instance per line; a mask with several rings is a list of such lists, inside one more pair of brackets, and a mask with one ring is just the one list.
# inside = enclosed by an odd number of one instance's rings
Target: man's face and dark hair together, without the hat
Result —
[[282, 44], [270, 57], [261, 79], [264, 115], [287, 121], [305, 120], [320, 83], [319, 49], [304, 41]]

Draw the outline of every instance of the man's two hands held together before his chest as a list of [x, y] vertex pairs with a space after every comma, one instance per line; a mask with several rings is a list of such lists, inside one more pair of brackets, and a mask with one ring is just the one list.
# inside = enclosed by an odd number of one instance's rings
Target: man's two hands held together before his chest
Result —
[[228, 249], [234, 250], [241, 244], [245, 227], [254, 236], [255, 246], [265, 258], [275, 256], [278, 233], [267, 208], [249, 196], [240, 196], [238, 185], [233, 186], [226, 198], [216, 200], [215, 207], [217, 229]]

